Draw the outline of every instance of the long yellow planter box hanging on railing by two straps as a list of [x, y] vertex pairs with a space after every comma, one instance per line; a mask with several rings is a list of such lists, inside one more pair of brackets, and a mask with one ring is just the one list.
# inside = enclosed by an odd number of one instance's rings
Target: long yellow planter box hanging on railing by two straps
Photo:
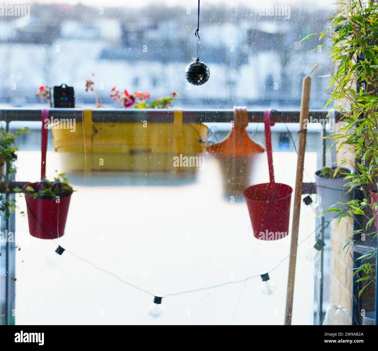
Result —
[[183, 123], [182, 117], [182, 111], [175, 110], [174, 123], [92, 122], [91, 110], [84, 110], [74, 132], [56, 124], [51, 132], [68, 170], [189, 171], [175, 169], [173, 158], [206, 151], [208, 128]]

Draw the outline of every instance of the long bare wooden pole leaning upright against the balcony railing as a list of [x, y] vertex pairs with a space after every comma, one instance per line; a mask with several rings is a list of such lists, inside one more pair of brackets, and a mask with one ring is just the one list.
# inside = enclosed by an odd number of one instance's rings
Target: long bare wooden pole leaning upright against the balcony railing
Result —
[[301, 211], [303, 167], [304, 167], [304, 160], [305, 160], [306, 136], [307, 136], [307, 123], [305, 123], [306, 122], [305, 120], [307, 120], [308, 122], [308, 106], [310, 103], [310, 88], [311, 88], [311, 78], [308, 76], [304, 77], [303, 82], [302, 82], [301, 114], [299, 116], [299, 144], [298, 144], [298, 159], [297, 159], [297, 175], [296, 175], [295, 193], [294, 193], [293, 226], [291, 228], [290, 261], [289, 261], [289, 274], [288, 274], [288, 280], [287, 280], [285, 325], [291, 325], [291, 315], [293, 312], [295, 266], [297, 262], [297, 245], [298, 245], [298, 231], [299, 231], [299, 214]]

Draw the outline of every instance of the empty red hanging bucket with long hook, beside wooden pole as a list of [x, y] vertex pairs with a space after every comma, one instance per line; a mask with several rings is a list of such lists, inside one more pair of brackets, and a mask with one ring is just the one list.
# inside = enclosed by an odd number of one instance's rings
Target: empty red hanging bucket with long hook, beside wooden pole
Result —
[[249, 186], [244, 191], [253, 235], [260, 240], [277, 240], [288, 235], [293, 188], [274, 182], [270, 126], [271, 111], [264, 112], [265, 144], [270, 183]]

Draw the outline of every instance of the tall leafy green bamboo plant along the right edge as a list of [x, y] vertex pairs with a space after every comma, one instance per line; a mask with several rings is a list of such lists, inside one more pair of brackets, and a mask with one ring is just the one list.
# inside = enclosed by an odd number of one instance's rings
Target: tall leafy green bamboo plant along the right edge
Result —
[[[369, 251], [361, 259], [361, 265], [353, 269], [362, 282], [359, 296], [366, 286], [375, 283], [377, 252], [371, 245], [377, 231], [372, 224], [377, 214], [377, 203], [370, 204], [370, 190], [377, 191], [378, 177], [378, 5], [375, 1], [347, 1], [338, 3], [336, 12], [328, 19], [330, 26], [322, 33], [312, 33], [302, 40], [318, 37], [321, 46], [330, 43], [330, 57], [335, 63], [335, 70], [330, 69], [330, 97], [325, 107], [330, 111], [338, 110], [342, 114], [342, 128], [330, 138], [334, 139], [331, 147], [337, 152], [351, 151], [354, 160], [344, 159], [337, 164], [335, 174], [342, 166], [355, 169], [354, 174], [347, 174], [349, 182], [345, 185], [353, 191], [358, 188], [363, 192], [362, 200], [352, 200], [342, 204], [342, 208], [330, 208], [329, 212], [339, 212], [338, 223], [342, 217], [358, 220], [361, 228], [354, 237], [369, 246]], [[361, 216], [356, 216], [361, 215]], [[361, 223], [361, 217], [364, 219]], [[344, 249], [349, 248], [349, 240]], [[369, 263], [370, 261], [370, 263]]]

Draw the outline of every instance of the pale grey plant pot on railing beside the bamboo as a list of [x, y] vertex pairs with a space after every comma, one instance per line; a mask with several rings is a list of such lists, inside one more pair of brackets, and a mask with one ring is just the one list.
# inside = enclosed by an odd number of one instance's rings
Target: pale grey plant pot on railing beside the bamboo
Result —
[[[349, 168], [343, 167], [348, 173], [352, 173]], [[348, 202], [352, 200], [353, 193], [347, 193], [349, 188], [344, 185], [350, 182], [344, 178], [322, 178], [318, 174], [321, 170], [315, 172], [316, 197], [319, 203], [319, 213], [330, 207], [342, 208], [341, 205], [335, 205], [336, 202]], [[337, 212], [326, 212], [322, 214], [326, 219], [332, 219], [337, 216]]]

